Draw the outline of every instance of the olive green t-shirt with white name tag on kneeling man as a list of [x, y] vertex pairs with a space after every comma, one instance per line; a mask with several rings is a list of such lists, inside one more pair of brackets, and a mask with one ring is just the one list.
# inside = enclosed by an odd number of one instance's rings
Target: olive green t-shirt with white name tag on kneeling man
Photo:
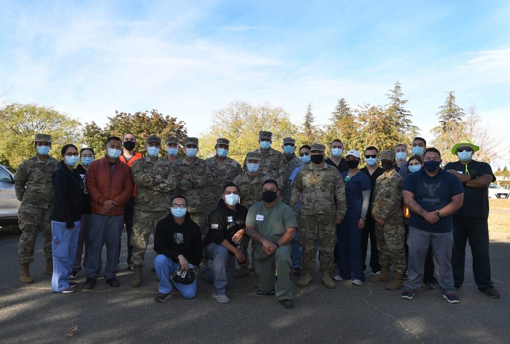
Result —
[[[297, 227], [296, 217], [291, 207], [282, 201], [278, 201], [271, 208], [264, 205], [264, 201], [253, 204], [248, 210], [246, 224], [252, 225], [271, 242], [279, 240], [285, 234], [285, 230], [291, 227]], [[287, 245], [291, 245], [288, 243]], [[254, 259], [261, 260], [267, 257], [262, 251], [262, 244], [256, 243]]]

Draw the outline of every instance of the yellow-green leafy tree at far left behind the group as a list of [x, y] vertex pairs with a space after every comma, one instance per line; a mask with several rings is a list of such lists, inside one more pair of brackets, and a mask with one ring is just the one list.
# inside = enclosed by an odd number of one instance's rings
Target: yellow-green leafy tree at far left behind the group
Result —
[[12, 170], [35, 155], [35, 134], [52, 136], [50, 155], [60, 159], [61, 148], [81, 144], [80, 122], [53, 108], [14, 103], [0, 109], [0, 162]]

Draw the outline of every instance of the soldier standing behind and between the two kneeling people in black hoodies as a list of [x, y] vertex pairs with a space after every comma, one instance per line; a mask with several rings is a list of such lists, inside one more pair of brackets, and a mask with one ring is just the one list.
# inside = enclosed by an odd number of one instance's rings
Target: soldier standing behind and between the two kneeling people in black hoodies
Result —
[[184, 139], [185, 157], [177, 160], [181, 170], [181, 180], [177, 184], [174, 195], [186, 197], [188, 200], [188, 213], [202, 233], [202, 239], [207, 233], [205, 213], [205, 189], [214, 182], [214, 174], [205, 160], [196, 156], [198, 152], [198, 139], [187, 137]]

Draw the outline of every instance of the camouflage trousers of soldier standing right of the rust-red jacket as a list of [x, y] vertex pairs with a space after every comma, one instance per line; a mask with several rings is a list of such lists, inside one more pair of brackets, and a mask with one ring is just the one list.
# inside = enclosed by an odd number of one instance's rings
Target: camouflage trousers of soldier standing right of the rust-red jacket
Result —
[[149, 242], [150, 232], [156, 229], [156, 225], [168, 215], [167, 210], [147, 211], [138, 210], [135, 206], [133, 231], [131, 232], [130, 244], [133, 246], [131, 262], [136, 266], [144, 264], [145, 250]]

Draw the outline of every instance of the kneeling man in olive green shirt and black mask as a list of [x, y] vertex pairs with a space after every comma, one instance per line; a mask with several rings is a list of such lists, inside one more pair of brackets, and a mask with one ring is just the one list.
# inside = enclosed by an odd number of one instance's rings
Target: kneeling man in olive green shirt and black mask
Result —
[[278, 196], [276, 180], [264, 181], [262, 201], [253, 204], [248, 210], [246, 234], [256, 242], [253, 257], [255, 272], [259, 276], [259, 289], [256, 293], [275, 294], [285, 308], [292, 308], [294, 284], [290, 272], [292, 241], [297, 222], [291, 207], [279, 201]]

